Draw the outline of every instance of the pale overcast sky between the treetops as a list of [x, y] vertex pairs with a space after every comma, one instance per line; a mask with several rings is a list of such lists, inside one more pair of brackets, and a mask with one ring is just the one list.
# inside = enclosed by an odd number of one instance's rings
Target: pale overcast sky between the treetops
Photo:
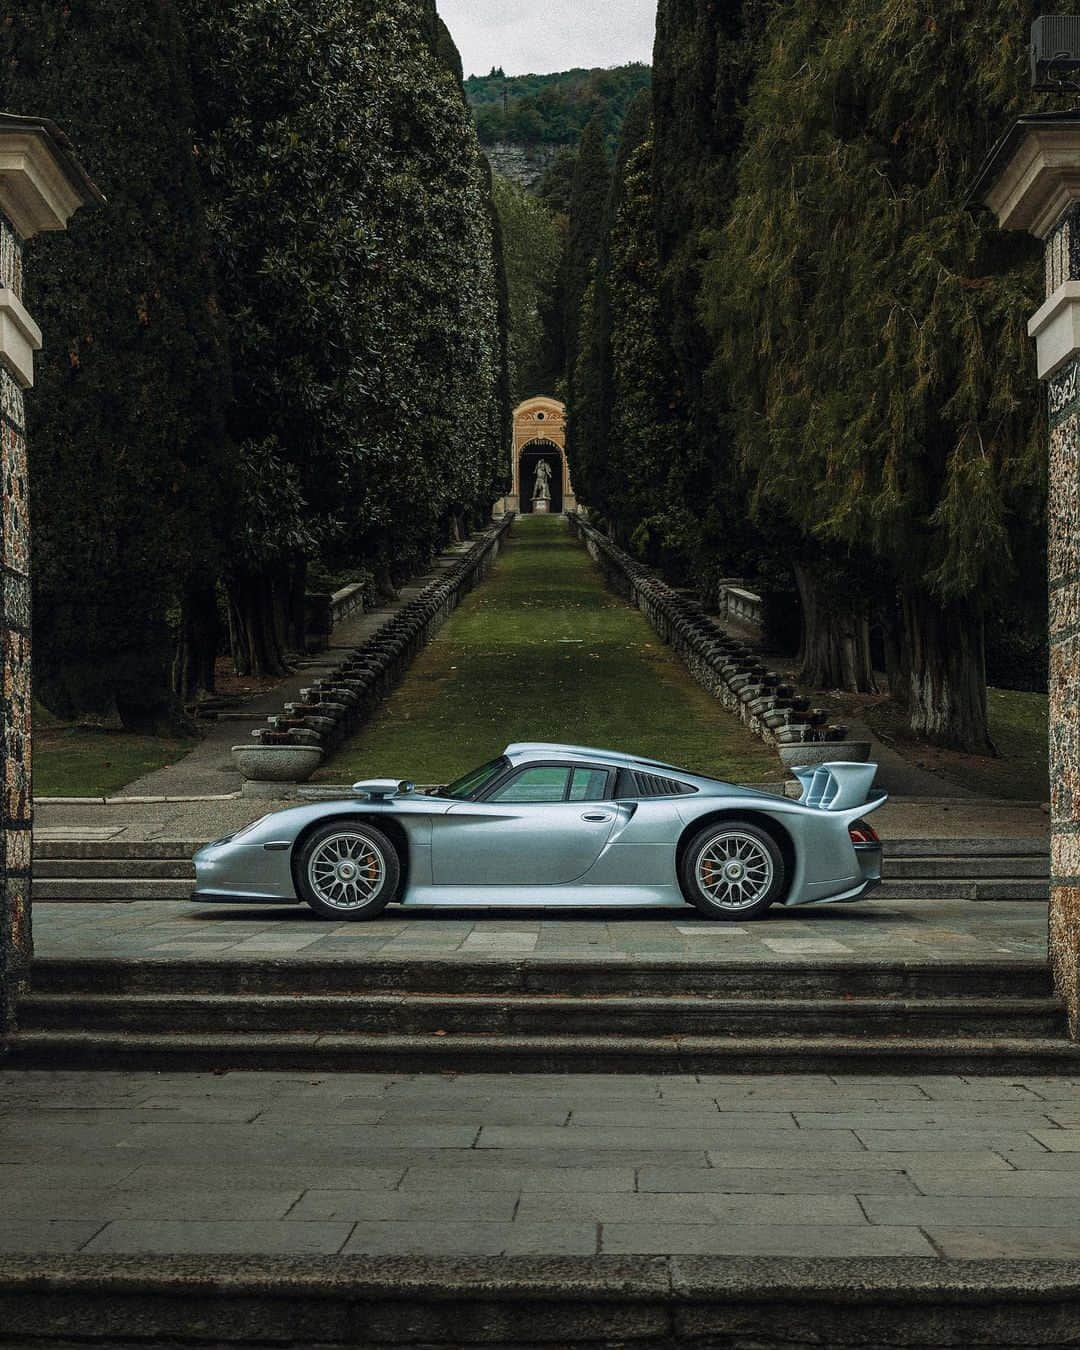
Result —
[[652, 62], [656, 0], [439, 0], [467, 76]]

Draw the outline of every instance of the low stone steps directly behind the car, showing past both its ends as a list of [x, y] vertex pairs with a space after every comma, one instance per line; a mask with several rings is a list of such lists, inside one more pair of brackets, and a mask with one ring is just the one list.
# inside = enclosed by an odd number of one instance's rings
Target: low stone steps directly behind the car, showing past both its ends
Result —
[[[200, 841], [38, 844], [34, 899], [186, 900]], [[894, 840], [886, 842], [886, 880], [875, 899], [1042, 900], [1049, 895], [1045, 840]]]

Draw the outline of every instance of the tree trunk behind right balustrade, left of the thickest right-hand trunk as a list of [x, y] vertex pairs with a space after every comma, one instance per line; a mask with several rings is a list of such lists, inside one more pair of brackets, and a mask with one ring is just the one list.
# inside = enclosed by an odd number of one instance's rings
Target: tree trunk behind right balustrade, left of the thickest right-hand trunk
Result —
[[794, 572], [802, 603], [799, 679], [818, 688], [875, 693], [867, 602], [824, 586], [805, 563], [794, 563]]

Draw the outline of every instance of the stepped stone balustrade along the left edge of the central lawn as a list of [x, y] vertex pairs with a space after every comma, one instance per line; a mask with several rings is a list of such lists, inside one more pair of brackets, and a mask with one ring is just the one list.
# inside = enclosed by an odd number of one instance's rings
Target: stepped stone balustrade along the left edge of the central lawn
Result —
[[[483, 578], [513, 524], [513, 513], [483, 532], [462, 556], [402, 605], [362, 645], [285, 703], [251, 733], [252, 745], [234, 747], [236, 767], [250, 783], [281, 791], [304, 782], [374, 713], [417, 653], [431, 641], [462, 597]], [[340, 594], [340, 593], [339, 593]]]

